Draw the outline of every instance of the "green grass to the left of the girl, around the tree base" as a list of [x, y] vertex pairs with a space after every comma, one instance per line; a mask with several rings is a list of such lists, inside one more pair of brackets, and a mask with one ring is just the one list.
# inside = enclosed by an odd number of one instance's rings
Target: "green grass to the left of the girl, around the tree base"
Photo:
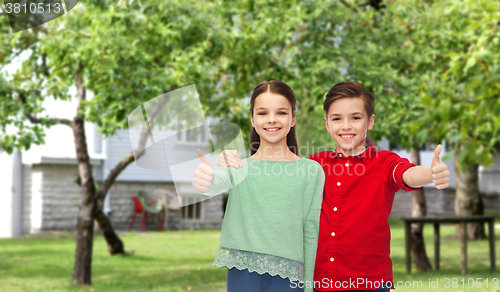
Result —
[[224, 291], [226, 271], [212, 267], [219, 230], [124, 233], [133, 256], [109, 256], [94, 240], [92, 286], [71, 284], [74, 234], [0, 240], [0, 291]]

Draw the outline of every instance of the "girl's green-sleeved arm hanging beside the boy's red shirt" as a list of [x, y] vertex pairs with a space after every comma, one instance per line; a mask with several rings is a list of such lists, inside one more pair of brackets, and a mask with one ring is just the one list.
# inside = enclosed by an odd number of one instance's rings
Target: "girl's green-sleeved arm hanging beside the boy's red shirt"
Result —
[[[314, 284], [314, 265], [316, 264], [316, 250], [318, 248], [319, 219], [321, 215], [321, 203], [323, 202], [323, 188], [325, 185], [325, 173], [323, 168], [315, 163], [317, 176], [311, 181], [312, 196], [311, 206], [306, 210], [304, 222], [304, 292], [312, 292]], [[309, 173], [311, 175], [311, 173]], [[309, 288], [308, 288], [309, 287]]]

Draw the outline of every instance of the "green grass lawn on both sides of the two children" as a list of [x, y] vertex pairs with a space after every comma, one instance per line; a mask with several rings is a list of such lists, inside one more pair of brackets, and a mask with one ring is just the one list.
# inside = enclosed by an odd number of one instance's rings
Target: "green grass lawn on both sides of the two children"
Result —
[[[404, 261], [404, 225], [391, 220], [394, 281], [400, 285], [421, 285], [397, 291], [498, 291], [493, 278], [500, 280], [500, 229], [496, 228], [497, 272], [490, 272], [488, 242], [468, 242], [469, 274], [460, 274], [460, 243], [452, 225], [441, 228], [441, 270], [419, 272], [415, 266], [407, 275]], [[427, 253], [433, 262], [432, 225], [425, 227]], [[219, 245], [219, 230], [124, 233], [120, 235], [133, 256], [109, 256], [104, 239], [97, 234], [94, 243], [90, 287], [71, 284], [74, 234], [33, 235], [20, 239], [0, 239], [0, 291], [225, 291], [225, 269], [212, 267]], [[446, 288], [446, 278], [450, 287]], [[455, 287], [453, 278], [457, 279]], [[478, 289], [468, 279], [481, 278]], [[429, 279], [439, 288], [429, 288]], [[462, 279], [464, 286], [462, 288]], [[486, 288], [486, 279], [488, 286]], [[421, 284], [420, 284], [421, 283]], [[474, 284], [476, 285], [476, 284]]]

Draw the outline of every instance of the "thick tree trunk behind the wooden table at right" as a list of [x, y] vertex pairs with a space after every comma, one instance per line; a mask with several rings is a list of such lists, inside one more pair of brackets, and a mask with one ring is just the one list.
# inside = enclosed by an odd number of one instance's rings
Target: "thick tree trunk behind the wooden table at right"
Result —
[[[474, 164], [462, 172], [458, 156], [463, 151], [463, 146], [455, 150], [455, 175], [456, 175], [456, 191], [455, 191], [455, 215], [470, 216], [483, 215], [484, 205], [483, 199], [479, 195], [479, 165]], [[463, 228], [460, 224], [456, 225], [457, 235], [461, 239]], [[484, 223], [468, 223], [467, 224], [468, 239], [484, 239]]]

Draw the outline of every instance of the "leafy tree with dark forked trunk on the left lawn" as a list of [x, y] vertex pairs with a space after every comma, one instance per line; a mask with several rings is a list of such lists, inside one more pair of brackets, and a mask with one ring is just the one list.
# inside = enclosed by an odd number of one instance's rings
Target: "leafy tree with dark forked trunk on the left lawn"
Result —
[[[84, 123], [97, 123], [105, 136], [113, 135], [126, 128], [127, 114], [144, 101], [193, 83], [207, 104], [217, 93], [217, 81], [227, 65], [222, 57], [233, 35], [216, 9], [217, 3], [197, 1], [81, 1], [65, 17], [43, 26], [16, 34], [5, 22], [0, 27], [1, 66], [20, 54], [28, 56], [20, 70], [0, 77], [1, 147], [12, 152], [43, 144], [44, 129], [54, 125], [66, 125], [73, 132], [81, 185], [74, 283], [91, 284], [94, 220], [110, 253], [124, 253], [102, 204], [134, 158], [133, 152], [124, 157], [97, 188]], [[76, 96], [70, 93], [72, 87]], [[93, 98], [87, 98], [88, 91]], [[42, 102], [48, 97], [76, 98], [74, 119], [44, 114]], [[9, 127], [17, 131], [10, 133]]]

